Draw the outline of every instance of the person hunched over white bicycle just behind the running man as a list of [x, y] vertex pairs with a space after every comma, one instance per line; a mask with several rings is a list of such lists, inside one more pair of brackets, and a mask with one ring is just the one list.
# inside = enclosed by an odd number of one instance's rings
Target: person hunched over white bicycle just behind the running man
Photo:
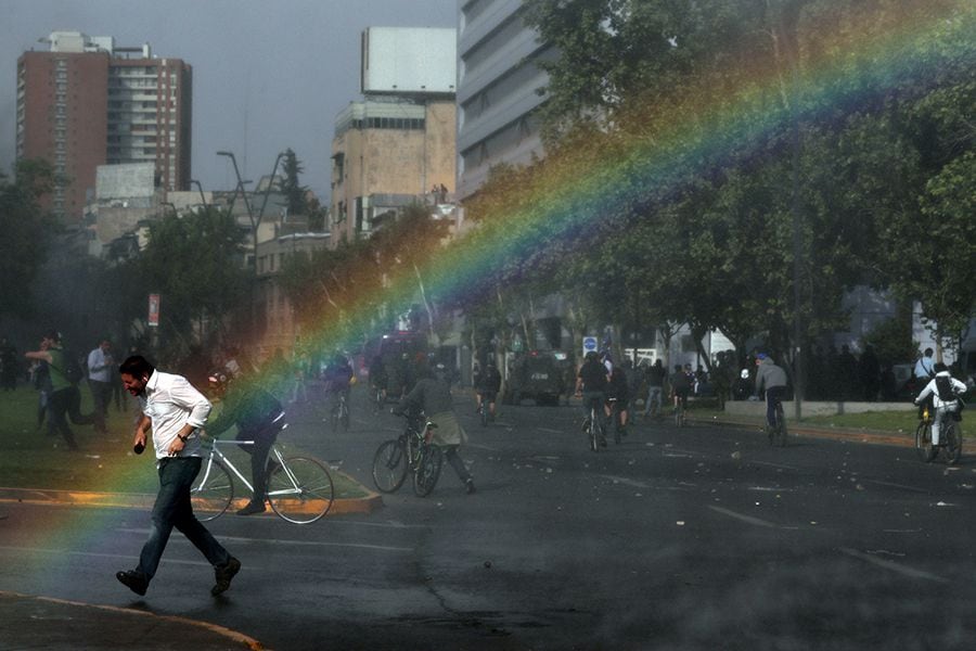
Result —
[[207, 425], [207, 433], [217, 437], [231, 425], [237, 425], [236, 441], [253, 441], [254, 445], [241, 445], [251, 455], [251, 480], [254, 496], [237, 515], [252, 515], [265, 511], [268, 490], [268, 473], [265, 467], [278, 433], [284, 429], [284, 410], [281, 403], [254, 381], [234, 380], [229, 371], [218, 371], [209, 376], [211, 399], [222, 401], [217, 419]]

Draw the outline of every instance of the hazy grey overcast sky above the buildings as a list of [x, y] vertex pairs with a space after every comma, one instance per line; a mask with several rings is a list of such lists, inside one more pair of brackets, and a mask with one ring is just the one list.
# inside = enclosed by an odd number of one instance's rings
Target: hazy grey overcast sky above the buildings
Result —
[[150, 43], [193, 66], [193, 178], [231, 190], [291, 146], [324, 201], [335, 115], [359, 94], [365, 27], [457, 27], [458, 0], [0, 0], [0, 169], [10, 173], [17, 58], [51, 31]]

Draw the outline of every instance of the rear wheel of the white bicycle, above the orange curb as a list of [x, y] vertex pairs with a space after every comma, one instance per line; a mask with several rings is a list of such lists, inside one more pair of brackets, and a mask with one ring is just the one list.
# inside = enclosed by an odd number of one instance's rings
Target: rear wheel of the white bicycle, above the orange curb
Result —
[[268, 477], [268, 501], [284, 520], [308, 524], [332, 508], [335, 487], [332, 475], [321, 461], [307, 457], [288, 457], [284, 465], [275, 465]]

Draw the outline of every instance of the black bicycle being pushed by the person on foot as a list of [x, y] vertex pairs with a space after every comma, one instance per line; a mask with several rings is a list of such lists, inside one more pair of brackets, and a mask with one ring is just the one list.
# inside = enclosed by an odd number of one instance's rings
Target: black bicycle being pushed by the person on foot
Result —
[[381, 493], [394, 493], [413, 474], [413, 492], [426, 497], [434, 490], [444, 464], [444, 451], [431, 439], [436, 425], [423, 413], [404, 412], [407, 429], [384, 441], [373, 455], [373, 483]]

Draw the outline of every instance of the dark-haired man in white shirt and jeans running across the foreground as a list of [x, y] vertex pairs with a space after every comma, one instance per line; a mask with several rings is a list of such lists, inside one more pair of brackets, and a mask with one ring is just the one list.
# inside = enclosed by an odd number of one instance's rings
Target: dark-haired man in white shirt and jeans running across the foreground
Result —
[[139, 398], [142, 407], [132, 441], [136, 454], [145, 448], [146, 432], [153, 432], [159, 493], [139, 564], [115, 576], [137, 595], [145, 595], [176, 527], [214, 566], [217, 583], [210, 593], [220, 595], [230, 587], [241, 562], [200, 523], [190, 503], [190, 489], [202, 462], [200, 429], [210, 413], [210, 403], [185, 378], [157, 371], [139, 355], [126, 359], [118, 370], [126, 391]]

